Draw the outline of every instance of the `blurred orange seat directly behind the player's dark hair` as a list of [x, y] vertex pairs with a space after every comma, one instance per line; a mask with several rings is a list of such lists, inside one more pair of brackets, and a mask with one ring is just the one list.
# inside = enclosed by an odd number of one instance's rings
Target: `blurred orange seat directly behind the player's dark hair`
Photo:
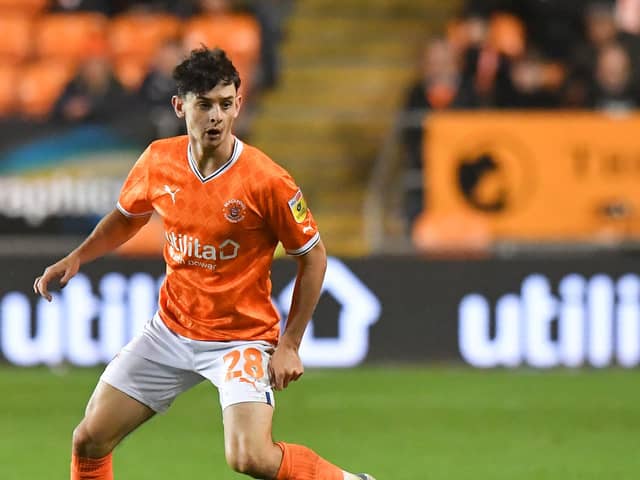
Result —
[[260, 58], [260, 25], [255, 18], [241, 14], [198, 15], [186, 23], [184, 32], [183, 42], [188, 50], [202, 44], [225, 50], [240, 73], [242, 90], [251, 90]]

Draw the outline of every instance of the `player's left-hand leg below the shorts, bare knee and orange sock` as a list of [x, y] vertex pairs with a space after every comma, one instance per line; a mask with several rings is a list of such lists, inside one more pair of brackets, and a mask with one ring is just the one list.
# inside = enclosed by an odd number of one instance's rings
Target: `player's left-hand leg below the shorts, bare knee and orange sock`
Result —
[[99, 382], [73, 431], [71, 480], [111, 480], [111, 451], [155, 412], [105, 382]]

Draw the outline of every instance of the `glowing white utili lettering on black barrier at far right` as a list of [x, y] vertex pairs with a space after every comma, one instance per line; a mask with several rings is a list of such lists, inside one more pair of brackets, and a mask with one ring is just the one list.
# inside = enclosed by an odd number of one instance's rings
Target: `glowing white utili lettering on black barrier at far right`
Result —
[[491, 305], [466, 295], [459, 305], [459, 348], [476, 367], [606, 367], [640, 364], [640, 276], [615, 280], [570, 274], [552, 291], [547, 277], [534, 274], [520, 294]]

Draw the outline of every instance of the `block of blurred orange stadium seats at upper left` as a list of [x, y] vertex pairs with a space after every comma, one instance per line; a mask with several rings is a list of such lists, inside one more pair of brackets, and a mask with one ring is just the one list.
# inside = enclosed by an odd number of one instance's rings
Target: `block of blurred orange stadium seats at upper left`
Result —
[[[136, 92], [161, 46], [171, 41], [182, 43], [184, 49], [201, 44], [225, 48], [242, 75], [245, 96], [258, 88], [254, 79], [260, 74], [261, 30], [254, 16], [229, 11], [181, 17], [131, 3], [130, 9], [116, 9], [120, 13], [109, 16], [58, 8], [47, 0], [0, 0], [3, 85], [8, 85], [16, 69], [18, 78], [24, 77], [17, 100], [9, 100], [3, 92], [7, 98], [0, 105], [0, 117], [13, 111], [26, 119], [47, 117], [79, 65], [92, 56], [108, 58], [118, 80]], [[40, 89], [36, 88], [38, 75], [48, 75], [41, 78]]]

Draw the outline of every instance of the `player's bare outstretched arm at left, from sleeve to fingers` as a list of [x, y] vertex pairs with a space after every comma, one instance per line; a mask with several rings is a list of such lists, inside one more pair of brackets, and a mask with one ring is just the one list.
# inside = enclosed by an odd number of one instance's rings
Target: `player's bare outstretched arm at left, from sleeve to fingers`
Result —
[[76, 274], [82, 264], [101, 257], [133, 237], [151, 218], [151, 214], [141, 217], [127, 217], [114, 209], [105, 215], [78, 248], [53, 265], [35, 279], [33, 291], [51, 301], [49, 283], [58, 280], [61, 287]]

